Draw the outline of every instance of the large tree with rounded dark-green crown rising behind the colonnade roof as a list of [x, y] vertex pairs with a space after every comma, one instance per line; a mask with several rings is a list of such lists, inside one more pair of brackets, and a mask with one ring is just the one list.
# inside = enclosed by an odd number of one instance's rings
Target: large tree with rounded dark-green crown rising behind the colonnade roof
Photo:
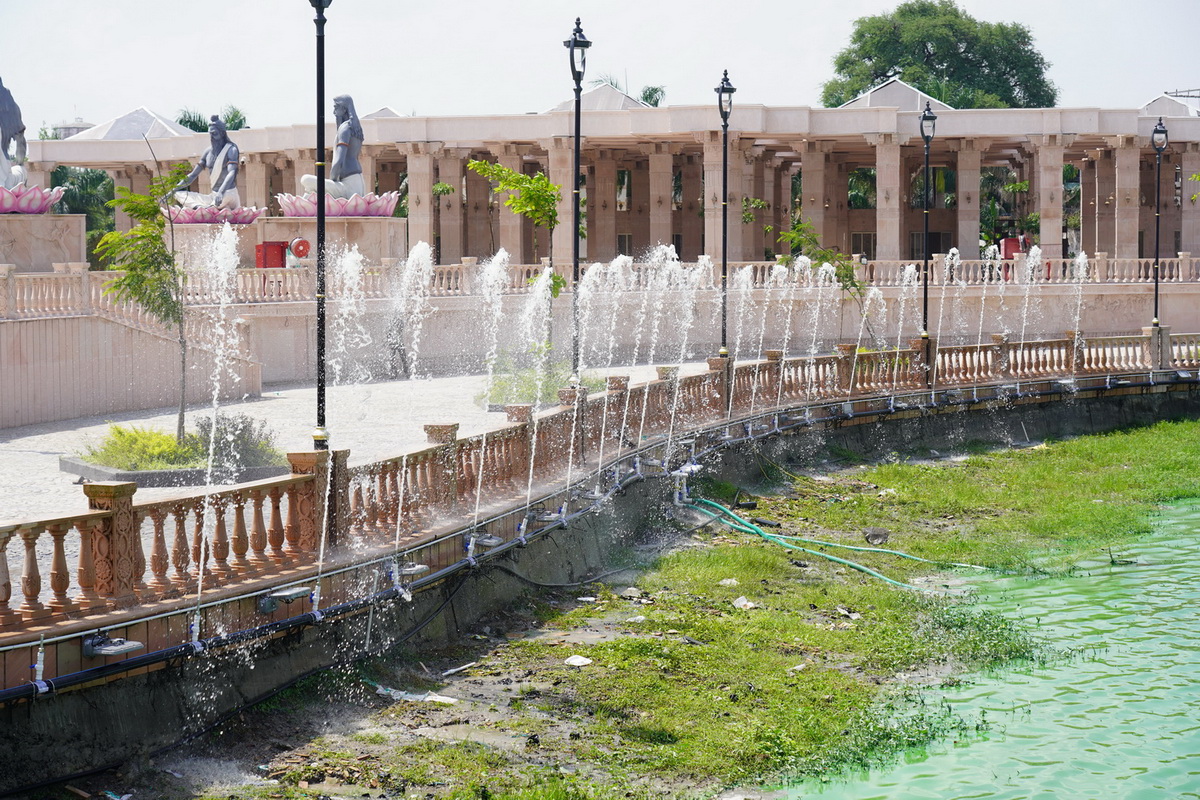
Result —
[[954, 0], [910, 0], [854, 22], [821, 102], [841, 106], [900, 77], [955, 108], [1046, 108], [1057, 102], [1049, 66], [1025, 25], [979, 22]]

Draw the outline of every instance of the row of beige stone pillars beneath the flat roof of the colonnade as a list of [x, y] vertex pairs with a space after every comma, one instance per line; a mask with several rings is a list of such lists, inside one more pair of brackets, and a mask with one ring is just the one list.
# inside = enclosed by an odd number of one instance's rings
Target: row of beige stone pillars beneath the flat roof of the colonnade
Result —
[[[733, 137], [730, 143], [730, 228], [732, 260], [762, 260], [781, 252], [778, 231], [788, 224], [792, 203], [826, 247], [862, 252], [863, 237], [874, 234], [875, 258], [912, 258], [912, 234], [920, 230], [919, 203], [910, 197], [912, 176], [922, 167], [922, 142], [896, 133], [862, 134], [874, 150], [874, 161], [859, 151], [838, 150], [834, 140], [757, 144]], [[916, 139], [916, 140], [913, 140]], [[979, 258], [979, 181], [985, 166], [1010, 166], [1018, 180], [1027, 180], [1026, 211], [1039, 212], [1043, 253], [1060, 257], [1067, 219], [1063, 217], [1062, 168], [1073, 134], [1031, 137], [1015, 149], [984, 138], [935, 140], [934, 167], [956, 173], [953, 207], [934, 207], [930, 230], [938, 245], [956, 246], [965, 259]], [[564, 264], [571, 252], [570, 182], [572, 140], [556, 137], [538, 144], [496, 143], [485, 149], [446, 143], [368, 144], [360, 161], [374, 176], [378, 192], [396, 191], [407, 175], [408, 236], [410, 242], [436, 242], [440, 263], [457, 263], [464, 255], [486, 257], [506, 249], [515, 263], [532, 263], [550, 254], [544, 230], [535, 231], [524, 219], [503, 207], [503, 197], [492, 197], [487, 181], [467, 169], [470, 158], [494, 160], [517, 170], [546, 172], [563, 186], [559, 225], [553, 231], [553, 253]], [[989, 152], [989, 148], [994, 148]], [[857, 152], [858, 155], [854, 155]], [[868, 151], [870, 152], [870, 151]], [[1115, 258], [1153, 253], [1154, 160], [1148, 144], [1135, 136], [1106, 137], [1103, 146], [1075, 146], [1072, 163], [1080, 167], [1080, 247], [1106, 252]], [[588, 260], [611, 260], [619, 252], [643, 253], [658, 243], [674, 245], [684, 260], [702, 253], [720, 253], [721, 137], [718, 131], [691, 134], [686, 142], [654, 142], [625, 148], [596, 148], [584, 143], [586, 181], [583, 253]], [[295, 192], [298, 178], [314, 173], [313, 150], [244, 154], [239, 188], [242, 203], [277, 212], [275, 194]], [[54, 164], [31, 162], [30, 182], [48, 186]], [[876, 170], [876, 207], [850, 209], [848, 175], [860, 167]], [[1163, 253], [1200, 252], [1200, 205], [1190, 198], [1190, 175], [1200, 174], [1200, 143], [1172, 143], [1163, 160]], [[1176, 168], [1182, 175], [1176, 205]], [[152, 162], [109, 169], [118, 186], [145, 192], [156, 170]], [[799, 173], [803, 191], [793, 200], [792, 179]], [[618, 201], [619, 185], [628, 174], [628, 192]], [[368, 181], [370, 182], [370, 181]], [[454, 187], [434, 197], [434, 184]], [[208, 191], [208, 175], [199, 179]], [[743, 200], [762, 200], [762, 207], [743, 207]], [[743, 223], [743, 211], [751, 222]], [[118, 228], [130, 221], [118, 212]], [[535, 247], [536, 245], [536, 247]], [[857, 245], [857, 246], [856, 246]], [[935, 249], [944, 249], [937, 247]]]

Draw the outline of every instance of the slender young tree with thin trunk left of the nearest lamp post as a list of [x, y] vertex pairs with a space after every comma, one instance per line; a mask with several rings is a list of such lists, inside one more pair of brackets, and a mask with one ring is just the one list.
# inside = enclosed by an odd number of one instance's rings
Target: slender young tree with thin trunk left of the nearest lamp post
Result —
[[[104, 234], [96, 253], [109, 269], [124, 272], [104, 285], [104, 294], [140, 305], [163, 325], [174, 325], [179, 337], [179, 416], [175, 439], [182, 444], [187, 410], [187, 337], [184, 335], [184, 271], [175, 261], [174, 227], [160, 203], [187, 175], [187, 164], [176, 164], [150, 181], [148, 194], [116, 187], [109, 203], [134, 223], [126, 231]], [[168, 225], [170, 230], [168, 231]]]

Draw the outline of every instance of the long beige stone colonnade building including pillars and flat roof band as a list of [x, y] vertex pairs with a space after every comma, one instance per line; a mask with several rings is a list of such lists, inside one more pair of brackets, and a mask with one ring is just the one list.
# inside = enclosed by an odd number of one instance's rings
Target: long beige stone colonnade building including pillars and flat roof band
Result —
[[[605, 102], [611, 98], [596, 94], [611, 91], [601, 88], [584, 95], [587, 259], [637, 254], [656, 243], [674, 245], [684, 260], [719, 253], [721, 137], [715, 104], [650, 108], [636, 101]], [[918, 118], [926, 100], [894, 82], [835, 109], [736, 104], [730, 121], [728, 200], [738, 211], [743, 198], [762, 199], [766, 207], [754, 211], [754, 224], [731, 215], [730, 258], [761, 260], [772, 253], [776, 243], [763, 227], [778, 230], [793, 203], [802, 204], [827, 247], [874, 251], [883, 260], [914, 258], [922, 209], [911, 187], [923, 166]], [[1160, 249], [1164, 255], [1200, 252], [1200, 206], [1192, 200], [1200, 186], [1190, 180], [1200, 173], [1200, 118], [1183, 102], [1164, 96], [1140, 109], [955, 110], [936, 101], [932, 106], [938, 119], [931, 166], [953, 169], [958, 178], [953, 206], [942, 203], [930, 213], [935, 252], [953, 246], [966, 259], [979, 257], [978, 176], [984, 168], [1003, 166], [1030, 181], [1027, 210], [1040, 215], [1040, 229], [1030, 233], [1038, 235], [1048, 257], [1062, 255], [1060, 175], [1064, 163], [1073, 163], [1082, 174], [1082, 249], [1114, 258], [1153, 254], [1150, 132], [1159, 116], [1170, 131], [1163, 156]], [[514, 263], [536, 263], [548, 253], [545, 234], [535, 252], [530, 225], [504, 209], [502, 198], [493, 197], [466, 164], [470, 158], [498, 161], [545, 172], [556, 184], [569, 186], [571, 120], [569, 103], [511, 116], [367, 115], [361, 161], [378, 192], [398, 188], [407, 176], [407, 242], [434, 243], [439, 263], [487, 257], [500, 247]], [[275, 194], [295, 192], [298, 176], [313, 172], [311, 125], [235, 131], [232, 137], [242, 154], [238, 184], [246, 205], [276, 209]], [[163, 164], [192, 161], [203, 148], [203, 134], [155, 142]], [[35, 182], [46, 185], [58, 164], [106, 169], [119, 185], [134, 190], [145, 190], [160, 166], [142, 140], [30, 143]], [[876, 170], [874, 209], [848, 207], [847, 180], [858, 168]], [[796, 174], [803, 194], [793, 199]], [[367, 182], [372, 186], [372, 178]], [[436, 182], [456, 191], [434, 197]], [[560, 219], [570, 218], [569, 197], [564, 193]], [[398, 248], [398, 237], [394, 240], [391, 246]], [[569, 258], [570, 242], [570, 225], [560, 224], [554, 231], [556, 261]]]

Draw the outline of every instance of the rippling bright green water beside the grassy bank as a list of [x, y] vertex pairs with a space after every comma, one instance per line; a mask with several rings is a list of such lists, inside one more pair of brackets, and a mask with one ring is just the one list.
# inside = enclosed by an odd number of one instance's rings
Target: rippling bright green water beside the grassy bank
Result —
[[1200, 798], [1200, 504], [1165, 510], [1154, 534], [1120, 558], [1136, 563], [1105, 558], [1068, 578], [978, 585], [984, 606], [1038, 620], [1054, 645], [1080, 651], [968, 676], [930, 698], [985, 720], [982, 733], [778, 796]]

